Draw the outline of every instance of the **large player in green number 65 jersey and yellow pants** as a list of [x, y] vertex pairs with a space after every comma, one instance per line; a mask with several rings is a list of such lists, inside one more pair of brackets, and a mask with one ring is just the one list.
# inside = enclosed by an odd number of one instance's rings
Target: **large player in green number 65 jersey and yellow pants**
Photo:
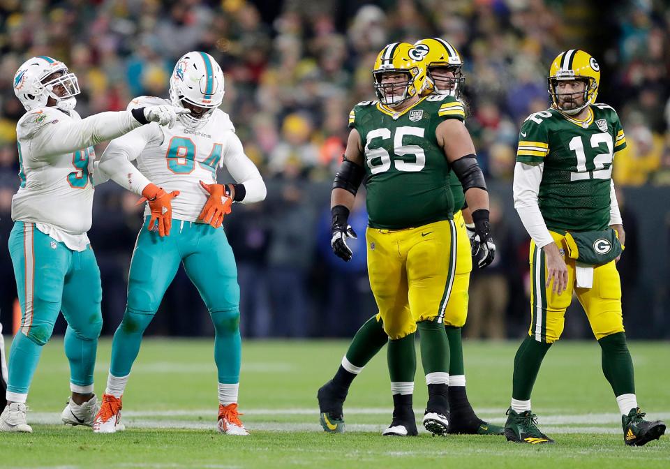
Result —
[[[422, 57], [409, 43], [389, 44], [378, 55], [373, 68], [378, 101], [359, 103], [350, 114], [352, 130], [331, 198], [332, 248], [348, 261], [352, 251], [346, 239], [355, 233], [347, 219], [366, 178], [368, 273], [379, 308], [375, 319], [389, 338], [394, 401], [392, 424], [383, 435], [417, 435], [412, 410], [417, 328], [429, 388], [423, 424], [433, 434], [449, 429], [444, 322], [456, 265], [452, 170], [472, 209], [476, 255], [488, 264], [495, 252], [488, 193], [463, 125], [463, 106], [449, 94], [420, 96], [426, 73]], [[324, 417], [328, 426], [326, 412]]]

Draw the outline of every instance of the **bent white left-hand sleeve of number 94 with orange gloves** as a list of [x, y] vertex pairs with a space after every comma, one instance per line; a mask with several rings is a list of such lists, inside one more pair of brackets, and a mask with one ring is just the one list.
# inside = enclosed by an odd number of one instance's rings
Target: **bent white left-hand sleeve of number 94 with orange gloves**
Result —
[[108, 179], [112, 179], [119, 186], [142, 195], [142, 191], [151, 181], [131, 161], [140, 156], [147, 144], [161, 139], [162, 133], [158, 124], [142, 126], [115, 138], [101, 156], [98, 170], [102, 170]]

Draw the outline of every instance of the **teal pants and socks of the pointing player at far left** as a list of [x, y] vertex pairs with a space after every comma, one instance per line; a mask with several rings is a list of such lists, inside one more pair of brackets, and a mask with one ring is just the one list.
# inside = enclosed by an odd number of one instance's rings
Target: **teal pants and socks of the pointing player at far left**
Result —
[[93, 249], [88, 246], [82, 252], [71, 251], [40, 232], [34, 223], [17, 221], [9, 236], [9, 252], [21, 324], [10, 349], [8, 393], [27, 394], [59, 311], [68, 322], [65, 353], [70, 362], [70, 382], [90, 387], [103, 327], [103, 290]]

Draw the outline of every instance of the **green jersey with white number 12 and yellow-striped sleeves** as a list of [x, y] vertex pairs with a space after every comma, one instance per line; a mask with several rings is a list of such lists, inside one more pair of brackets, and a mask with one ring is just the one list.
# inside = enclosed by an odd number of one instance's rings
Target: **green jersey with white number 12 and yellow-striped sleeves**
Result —
[[585, 121], [548, 109], [523, 122], [516, 161], [544, 163], [538, 202], [549, 230], [609, 225], [612, 161], [625, 147], [619, 117], [606, 104], [591, 105]]

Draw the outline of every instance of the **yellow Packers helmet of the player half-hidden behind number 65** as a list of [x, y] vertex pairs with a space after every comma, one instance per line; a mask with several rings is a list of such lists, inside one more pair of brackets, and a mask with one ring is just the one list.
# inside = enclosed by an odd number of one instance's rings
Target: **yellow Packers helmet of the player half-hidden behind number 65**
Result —
[[[461, 94], [461, 84], [466, 81], [463, 76], [463, 58], [456, 47], [441, 38], [426, 38], [417, 40], [414, 47], [422, 53], [426, 67], [426, 79], [424, 80], [421, 94], [448, 94], [458, 98]], [[454, 73], [453, 78], [440, 80], [447, 82], [446, 89], [440, 89], [435, 84], [435, 78], [431, 75], [431, 68], [447, 68]]]

